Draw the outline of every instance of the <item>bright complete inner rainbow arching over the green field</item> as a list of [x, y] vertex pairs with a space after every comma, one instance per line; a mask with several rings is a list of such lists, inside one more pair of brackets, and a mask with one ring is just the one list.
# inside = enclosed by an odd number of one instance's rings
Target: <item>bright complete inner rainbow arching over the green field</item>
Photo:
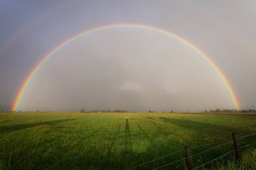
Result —
[[100, 31], [100, 30], [104, 30], [104, 29], [109, 29], [109, 28], [122, 28], [122, 27], [134, 27], [134, 28], [145, 28], [145, 29], [149, 29], [149, 30], [154, 30], [157, 31], [159, 33], [163, 33], [163, 34], [167, 34], [171, 37], [176, 38], [177, 40], [180, 40], [182, 42], [184, 42], [186, 45], [188, 45], [190, 48], [192, 48], [193, 50], [195, 50], [196, 52], [198, 52], [198, 54], [200, 54], [205, 60], [207, 60], [207, 62], [209, 62], [209, 64], [212, 66], [212, 68], [215, 69], [215, 71], [218, 73], [218, 75], [221, 77], [221, 79], [223, 80], [223, 82], [225, 83], [230, 96], [233, 99], [233, 102], [236, 106], [236, 109], [240, 110], [240, 105], [238, 102], [238, 99], [235, 95], [235, 92], [233, 91], [233, 89], [231, 88], [230, 83], [227, 81], [227, 78], [224, 76], [224, 74], [222, 73], [222, 71], [217, 67], [217, 65], [215, 65], [214, 62], [212, 62], [212, 60], [206, 55], [204, 54], [203, 51], [201, 51], [199, 48], [197, 48], [195, 45], [193, 45], [191, 42], [183, 39], [182, 37], [173, 34], [167, 30], [164, 30], [162, 28], [157, 28], [157, 27], [153, 27], [153, 26], [146, 26], [146, 25], [141, 25], [141, 24], [130, 24], [130, 23], [122, 23], [122, 24], [113, 24], [113, 25], [107, 25], [107, 26], [99, 26], [96, 28], [92, 28], [89, 30], [86, 30], [84, 32], [81, 32], [79, 34], [74, 35], [73, 37], [70, 37], [69, 39], [67, 39], [66, 41], [62, 42], [61, 44], [59, 44], [58, 46], [56, 46], [55, 48], [52, 49], [52, 51], [49, 51], [49, 53], [43, 57], [43, 59], [41, 59], [40, 62], [38, 62], [38, 64], [35, 66], [34, 69], [32, 69], [32, 71], [30, 71], [29, 75], [26, 77], [25, 81], [23, 82], [20, 90], [17, 93], [17, 96], [15, 98], [15, 102], [12, 106], [12, 110], [16, 111], [19, 103], [20, 103], [20, 99], [22, 98], [24, 92], [26, 91], [26, 87], [28, 86], [29, 82], [31, 81], [31, 79], [35, 76], [35, 74], [37, 73], [37, 71], [41, 68], [41, 66], [50, 58], [52, 57], [57, 51], [59, 51], [61, 48], [63, 48], [65, 45], [69, 44], [70, 42], [78, 39], [79, 37], [82, 37], [84, 35], [96, 32], [96, 31]]

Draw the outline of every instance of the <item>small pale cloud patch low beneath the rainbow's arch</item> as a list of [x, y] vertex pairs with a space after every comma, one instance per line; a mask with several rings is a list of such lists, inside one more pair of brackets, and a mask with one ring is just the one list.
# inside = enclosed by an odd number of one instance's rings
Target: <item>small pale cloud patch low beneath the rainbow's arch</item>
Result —
[[135, 82], [126, 81], [122, 85], [114, 86], [113, 89], [118, 89], [121, 91], [130, 91], [130, 92], [143, 92], [145, 91], [145, 88]]

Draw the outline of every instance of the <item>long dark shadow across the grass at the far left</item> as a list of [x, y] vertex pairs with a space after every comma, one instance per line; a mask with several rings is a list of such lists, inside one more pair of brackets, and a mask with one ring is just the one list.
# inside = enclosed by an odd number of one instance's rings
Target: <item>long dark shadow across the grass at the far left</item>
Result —
[[67, 122], [71, 120], [75, 120], [75, 119], [61, 119], [61, 120], [53, 120], [53, 121], [47, 121], [47, 122], [35, 122], [35, 123], [26, 123], [26, 124], [18, 124], [18, 125], [1, 126], [0, 133], [5, 131], [21, 130], [29, 127], [36, 127], [39, 125], [52, 125], [52, 124]]

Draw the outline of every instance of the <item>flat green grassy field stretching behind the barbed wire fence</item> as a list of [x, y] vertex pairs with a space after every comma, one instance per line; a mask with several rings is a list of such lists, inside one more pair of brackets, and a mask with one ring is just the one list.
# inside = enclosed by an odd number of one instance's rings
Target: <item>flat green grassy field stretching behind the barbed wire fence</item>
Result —
[[[129, 169], [185, 145], [232, 139], [232, 132], [256, 132], [256, 114], [0, 113], [0, 169]], [[255, 140], [256, 136], [241, 139], [241, 145]], [[192, 154], [215, 146], [193, 148]], [[256, 166], [254, 148], [243, 150], [245, 167]], [[233, 142], [197, 155], [195, 166], [230, 150]], [[151, 170], [182, 158], [184, 151], [135, 169]], [[234, 169], [229, 161], [232, 155], [206, 168]], [[165, 169], [186, 169], [185, 161], [161, 168]]]

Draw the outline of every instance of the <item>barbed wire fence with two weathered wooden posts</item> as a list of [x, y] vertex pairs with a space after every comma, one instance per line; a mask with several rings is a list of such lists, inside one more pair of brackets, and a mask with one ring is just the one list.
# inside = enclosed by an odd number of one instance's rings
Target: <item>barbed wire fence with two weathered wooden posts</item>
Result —
[[[244, 136], [241, 136], [241, 137], [238, 136], [236, 133], [232, 133], [232, 135], [233, 135], [233, 139], [230, 139], [230, 140], [225, 140], [225, 141], [215, 142], [215, 143], [210, 143], [210, 144], [204, 144], [204, 145], [199, 145], [199, 146], [194, 146], [194, 147], [186, 146], [186, 147], [189, 147], [189, 150], [190, 150], [190, 153], [191, 153], [191, 149], [194, 149], [194, 148], [199, 148], [199, 147], [205, 147], [205, 146], [210, 146], [210, 145], [214, 145], [214, 144], [219, 144], [219, 145], [217, 145], [217, 146], [215, 146], [215, 147], [212, 147], [212, 148], [209, 148], [209, 149], [207, 149], [207, 150], [201, 151], [201, 152], [196, 153], [196, 154], [194, 154], [194, 155], [186, 156], [185, 158], [182, 158], [182, 159], [179, 159], [179, 160], [172, 161], [172, 162], [170, 162], [170, 163], [168, 163], [168, 164], [164, 164], [164, 165], [162, 165], [162, 166], [160, 166], [160, 167], [156, 167], [156, 168], [154, 168], [154, 169], [152, 169], [152, 170], [158, 170], [158, 169], [161, 169], [161, 168], [163, 168], [163, 167], [167, 167], [167, 166], [170, 166], [170, 165], [175, 164], [175, 163], [177, 163], [177, 162], [185, 161], [185, 160], [186, 160], [186, 165], [187, 165], [187, 169], [188, 169], [188, 170], [197, 170], [198, 168], [204, 167], [205, 165], [210, 164], [210, 163], [212, 163], [212, 162], [214, 162], [214, 161], [217, 161], [217, 160], [219, 160], [219, 159], [223, 159], [224, 157], [226, 157], [226, 156], [228, 156], [228, 155], [231, 155], [231, 153], [234, 153], [234, 152], [236, 153], [236, 161], [234, 161], [234, 162], [232, 162], [232, 163], [237, 163], [237, 162], [239, 162], [239, 161], [242, 161], [241, 149], [244, 149], [244, 148], [246, 148], [246, 147], [250, 147], [250, 146], [255, 145], [255, 144], [256, 144], [256, 140], [253, 141], [253, 142], [250, 142], [249, 144], [246, 144], [246, 145], [244, 145], [244, 146], [241, 147], [240, 142], [239, 142], [239, 139], [244, 139], [244, 138], [247, 138], [247, 137], [249, 137], [249, 136], [254, 136], [254, 135], [256, 135], [256, 132], [255, 132], [255, 133], [250, 133], [250, 134], [247, 134], [247, 135], [244, 135]], [[229, 152], [227, 152], [227, 153], [224, 153], [224, 154], [222, 154], [221, 156], [218, 156], [218, 157], [215, 158], [215, 159], [212, 159], [212, 160], [210, 160], [210, 161], [207, 161], [207, 162], [204, 163], [204, 164], [201, 164], [201, 165], [199, 165], [199, 166], [197, 166], [197, 167], [194, 167], [193, 162], [191, 162], [191, 161], [189, 162], [189, 161], [188, 161], [189, 159], [192, 160], [192, 158], [195, 157], [195, 156], [201, 155], [202, 153], [206, 153], [206, 152], [208, 152], [208, 151], [210, 151], [210, 150], [213, 150], [213, 149], [216, 149], [216, 148], [218, 148], [218, 147], [224, 146], [224, 145], [229, 144], [229, 143], [231, 143], [231, 142], [233, 142], [233, 144], [234, 144], [234, 150], [231, 150], [231, 151], [229, 151]], [[185, 152], [186, 152], [186, 147], [185, 147]], [[136, 168], [141, 167], [141, 166], [143, 166], [143, 165], [145, 165], [145, 164], [148, 164], [148, 163], [151, 163], [151, 162], [154, 162], [154, 161], [163, 159], [163, 158], [168, 157], [168, 156], [175, 155], [175, 154], [177, 154], [177, 153], [181, 153], [182, 151], [184, 151], [184, 149], [182, 149], [182, 150], [177, 150], [177, 151], [175, 151], [175, 152], [173, 152], [173, 153], [169, 153], [169, 154], [167, 154], [167, 155], [165, 155], [165, 156], [161, 156], [161, 157], [156, 158], [156, 159], [153, 159], [153, 160], [151, 160], [151, 161], [147, 161], [147, 162], [145, 162], [145, 163], [143, 163], [143, 164], [139, 164], [139, 165], [134, 166], [134, 167], [131, 167], [131, 168], [127, 169], [127, 170], [136, 169]], [[186, 155], [187, 155], [187, 153], [186, 153]], [[239, 155], [240, 155], [240, 156], [239, 156]], [[230, 163], [230, 164], [231, 164], [231, 163]], [[228, 165], [229, 165], [229, 164], [228, 164]]]

